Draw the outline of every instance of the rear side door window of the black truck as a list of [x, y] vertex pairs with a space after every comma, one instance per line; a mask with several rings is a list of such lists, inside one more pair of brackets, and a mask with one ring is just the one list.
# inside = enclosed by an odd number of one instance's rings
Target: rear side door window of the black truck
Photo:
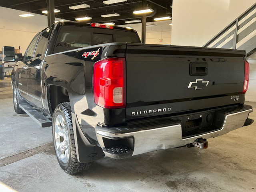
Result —
[[41, 33], [36, 46], [35, 57], [40, 57], [45, 53], [47, 48], [48, 38], [51, 32], [52, 32], [52, 28], [49, 28]]

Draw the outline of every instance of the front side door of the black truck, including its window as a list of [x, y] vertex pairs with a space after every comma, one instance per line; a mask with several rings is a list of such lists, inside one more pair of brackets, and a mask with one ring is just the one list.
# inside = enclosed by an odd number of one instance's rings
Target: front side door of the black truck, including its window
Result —
[[27, 96], [28, 85], [27, 85], [27, 79], [26, 79], [28, 63], [34, 56], [34, 50], [35, 50], [35, 46], [36, 46], [38, 37], [39, 37], [39, 34], [37, 34], [31, 41], [30, 45], [28, 46], [28, 48], [25, 52], [24, 59], [22, 62], [20, 62], [18, 64], [18, 69], [17, 69], [17, 72], [18, 72], [17, 86], [18, 86], [18, 89], [20, 90], [20, 93], [22, 94], [22, 96], [26, 99], [28, 99], [28, 96]]

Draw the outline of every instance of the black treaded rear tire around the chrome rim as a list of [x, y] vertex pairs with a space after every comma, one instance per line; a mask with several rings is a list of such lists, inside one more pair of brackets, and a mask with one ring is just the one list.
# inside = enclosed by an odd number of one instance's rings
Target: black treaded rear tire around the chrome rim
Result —
[[[56, 118], [61, 115], [66, 124], [66, 128], [68, 130], [68, 140], [69, 140], [69, 158], [68, 161], [65, 163], [61, 160], [61, 158], [58, 155], [58, 149], [56, 147], [56, 133], [55, 133], [55, 123], [56, 123]], [[58, 120], [57, 120], [58, 121]], [[58, 123], [58, 122], [57, 122]], [[52, 138], [53, 138], [53, 143], [54, 143], [54, 150], [56, 152], [57, 160], [64, 172], [67, 174], [75, 174], [81, 171], [84, 171], [89, 168], [91, 165], [90, 163], [80, 163], [77, 160], [76, 156], [76, 144], [74, 140], [74, 132], [73, 132], [73, 124], [72, 124], [72, 117], [71, 117], [71, 108], [70, 108], [70, 103], [60, 103], [54, 110], [53, 116], [52, 116]], [[64, 141], [63, 137], [63, 141]]]

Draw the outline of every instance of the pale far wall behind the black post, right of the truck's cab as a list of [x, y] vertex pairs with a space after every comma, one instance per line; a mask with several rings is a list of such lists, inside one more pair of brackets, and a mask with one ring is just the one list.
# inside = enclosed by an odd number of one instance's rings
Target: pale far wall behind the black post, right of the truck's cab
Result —
[[[172, 26], [169, 25], [172, 20], [148, 22], [147, 25], [155, 24], [154, 27], [146, 27], [147, 44], [171, 44]], [[120, 25], [120, 27], [130, 26], [138, 32], [141, 39], [141, 23]], [[160, 42], [162, 40], [162, 42]]]

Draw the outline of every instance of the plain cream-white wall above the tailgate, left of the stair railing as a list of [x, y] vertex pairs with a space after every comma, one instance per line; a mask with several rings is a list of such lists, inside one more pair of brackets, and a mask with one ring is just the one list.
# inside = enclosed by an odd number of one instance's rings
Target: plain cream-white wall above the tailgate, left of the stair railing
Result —
[[173, 0], [172, 45], [203, 46], [255, 0]]

